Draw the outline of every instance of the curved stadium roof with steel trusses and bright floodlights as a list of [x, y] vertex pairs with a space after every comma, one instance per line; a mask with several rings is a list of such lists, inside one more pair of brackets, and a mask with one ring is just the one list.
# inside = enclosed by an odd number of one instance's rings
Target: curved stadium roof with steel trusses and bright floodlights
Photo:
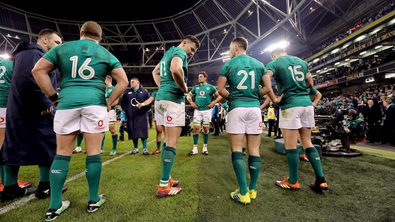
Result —
[[[288, 54], [303, 55], [385, 3], [383, 0], [199, 0], [191, 8], [165, 18], [98, 21], [103, 28], [100, 44], [116, 55], [130, 73], [151, 73], [163, 52], [189, 34], [201, 42], [197, 53], [190, 58], [189, 67], [222, 66], [221, 53], [228, 51], [231, 39], [237, 36], [248, 39], [249, 55], [266, 63], [270, 56], [262, 51], [270, 44], [285, 40], [292, 46]], [[36, 41], [43, 28], [59, 31], [65, 41], [79, 39], [82, 24], [32, 14], [0, 2], [0, 52], [12, 49], [20, 41]]]

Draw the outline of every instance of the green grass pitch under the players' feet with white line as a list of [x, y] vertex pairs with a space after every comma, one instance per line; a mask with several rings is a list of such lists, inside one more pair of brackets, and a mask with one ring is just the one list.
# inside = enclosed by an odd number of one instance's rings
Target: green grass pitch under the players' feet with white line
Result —
[[[119, 124], [119, 123], [118, 123]], [[117, 127], [118, 127], [117, 124]], [[118, 131], [118, 128], [117, 128]], [[155, 130], [150, 130], [149, 151], [156, 149]], [[126, 134], [127, 135], [127, 134]], [[189, 156], [193, 138], [181, 137], [171, 176], [180, 181], [182, 192], [173, 197], [158, 199], [155, 195], [159, 183], [161, 161], [159, 155], [130, 155], [132, 141], [118, 142], [118, 153], [109, 156], [111, 136], [106, 134], [106, 152], [102, 154], [103, 171], [99, 193], [108, 201], [95, 213], [87, 213], [87, 183], [83, 175], [83, 152], [73, 154], [63, 194], [71, 205], [58, 222], [344, 222], [394, 221], [394, 169], [395, 161], [364, 152], [353, 158], [322, 157], [323, 172], [329, 191], [316, 194], [309, 184], [314, 172], [309, 162], [300, 162], [300, 191], [291, 191], [275, 185], [288, 175], [284, 154], [274, 148], [274, 139], [262, 134], [261, 173], [257, 185], [257, 199], [244, 206], [231, 200], [230, 192], [238, 188], [231, 162], [227, 134], [209, 136], [209, 155], [201, 154], [202, 136], [198, 151]], [[141, 146], [141, 141], [139, 141]], [[83, 143], [82, 143], [82, 149]], [[142, 151], [142, 150], [140, 150]], [[364, 150], [363, 150], [364, 151]], [[374, 150], [373, 150], [374, 151]], [[391, 153], [389, 153], [391, 154]], [[248, 159], [248, 151], [245, 159]], [[106, 162], [108, 161], [108, 162]], [[37, 166], [23, 166], [19, 179], [39, 182]], [[247, 176], [247, 181], [249, 176]], [[19, 200], [24, 200], [19, 198]], [[15, 201], [0, 203], [1, 222], [43, 221], [49, 198], [29, 200], [20, 207], [6, 211]], [[5, 212], [5, 213], [4, 213]]]

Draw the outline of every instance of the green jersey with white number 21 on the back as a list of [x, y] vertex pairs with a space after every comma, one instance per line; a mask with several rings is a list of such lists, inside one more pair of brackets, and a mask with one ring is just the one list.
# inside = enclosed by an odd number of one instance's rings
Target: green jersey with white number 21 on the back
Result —
[[229, 109], [237, 107], [260, 107], [259, 84], [268, 74], [263, 63], [247, 55], [238, 55], [222, 67], [220, 76], [229, 83]]

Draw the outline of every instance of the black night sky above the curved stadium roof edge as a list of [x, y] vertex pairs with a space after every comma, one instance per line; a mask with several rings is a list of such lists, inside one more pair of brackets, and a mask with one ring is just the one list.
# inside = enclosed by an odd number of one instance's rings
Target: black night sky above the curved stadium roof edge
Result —
[[198, 0], [162, 1], [24, 1], [2, 3], [26, 12], [71, 21], [115, 22], [169, 17], [194, 6]]

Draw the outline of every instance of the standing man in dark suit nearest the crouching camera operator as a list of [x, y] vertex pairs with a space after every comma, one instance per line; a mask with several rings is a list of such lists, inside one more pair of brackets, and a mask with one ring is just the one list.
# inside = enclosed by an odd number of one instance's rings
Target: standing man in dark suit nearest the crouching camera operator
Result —
[[368, 100], [367, 105], [362, 109], [362, 114], [363, 120], [369, 128], [366, 134], [366, 143], [380, 142], [379, 126], [382, 118], [380, 107], [375, 105], [373, 100]]

